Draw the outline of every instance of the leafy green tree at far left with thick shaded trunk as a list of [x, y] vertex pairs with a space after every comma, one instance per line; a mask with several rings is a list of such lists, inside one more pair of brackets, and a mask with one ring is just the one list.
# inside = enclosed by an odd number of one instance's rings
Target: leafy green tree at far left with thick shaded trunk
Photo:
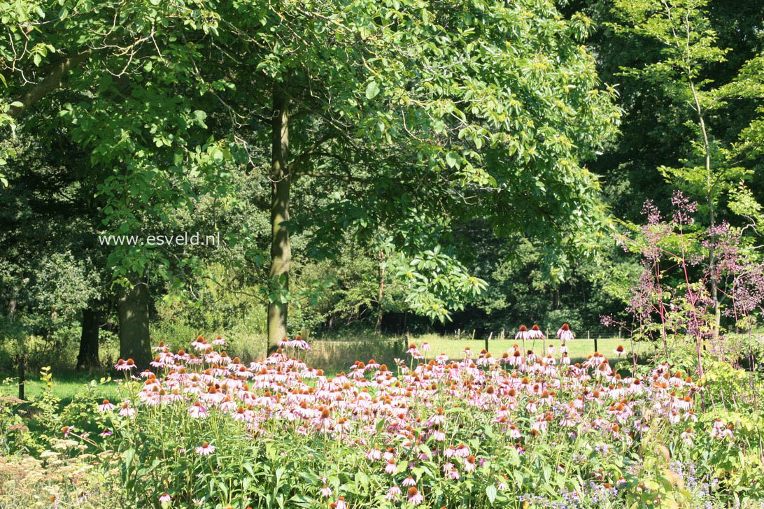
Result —
[[[204, 133], [206, 115], [193, 108], [199, 93], [189, 72], [193, 42], [214, 30], [215, 13], [203, 2], [155, 0], [20, 0], [0, 9], [8, 27], [0, 43], [0, 124], [13, 135], [47, 123], [89, 151], [86, 177], [97, 184], [105, 233], [145, 236], [157, 224], [172, 231], [168, 212], [193, 206], [197, 192], [212, 185], [203, 177], [228, 155]], [[50, 107], [60, 115], [48, 117]], [[148, 328], [131, 327], [148, 321], [141, 284], [147, 272], [177, 282], [170, 261], [145, 245], [115, 246], [108, 257], [109, 279], [124, 288], [119, 316], [129, 333], [121, 350], [141, 365], [151, 358]]]

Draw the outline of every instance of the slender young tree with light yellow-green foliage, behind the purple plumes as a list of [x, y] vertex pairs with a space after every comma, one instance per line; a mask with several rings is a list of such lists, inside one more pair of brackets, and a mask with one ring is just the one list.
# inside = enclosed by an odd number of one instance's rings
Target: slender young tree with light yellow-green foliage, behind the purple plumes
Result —
[[[724, 132], [722, 136], [714, 136], [712, 130], [711, 122], [724, 111], [730, 91], [743, 92], [743, 89], [736, 85], [738, 80], [724, 85], [719, 76], [709, 72], [714, 65], [727, 60], [728, 49], [718, 46], [708, 5], [709, 0], [616, 0], [613, 12], [618, 23], [608, 25], [617, 34], [657, 43], [659, 53], [654, 60], [621, 66], [621, 74], [638, 79], [645, 86], [658, 87], [677, 109], [675, 121], [685, 121], [689, 130], [688, 156], [679, 159], [681, 166], [662, 165], [658, 169], [672, 185], [699, 198], [707, 227], [714, 230], [719, 224], [721, 199], [753, 171], [741, 165], [740, 143], [735, 147], [734, 140], [724, 139]], [[743, 68], [746, 76], [751, 74], [750, 66]], [[756, 97], [750, 86], [744, 89], [745, 95]], [[762, 97], [760, 87], [758, 97]], [[740, 134], [749, 135], [746, 130]], [[721, 298], [714, 245], [709, 243], [707, 256], [716, 335], [721, 320]]]

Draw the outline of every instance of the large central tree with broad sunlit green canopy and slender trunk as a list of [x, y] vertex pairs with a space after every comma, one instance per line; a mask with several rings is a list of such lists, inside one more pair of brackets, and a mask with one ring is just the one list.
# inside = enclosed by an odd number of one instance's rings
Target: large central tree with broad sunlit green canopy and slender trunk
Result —
[[[298, 179], [335, 185], [317, 240], [387, 227], [412, 263], [442, 257], [429, 267], [440, 272], [461, 271], [438, 247], [458, 243], [447, 234], [455, 217], [551, 238], [559, 250], [584, 248], [573, 233], [604, 217], [597, 179], [579, 162], [613, 133], [618, 112], [577, 43], [585, 18], [565, 21], [552, 2], [478, 0], [247, 4], [223, 18], [232, 26], [216, 54], [249, 70], [222, 101], [240, 115], [239, 137], [256, 136], [253, 124], [270, 133], [271, 347], [286, 335], [290, 228], [305, 224], [290, 210]], [[445, 316], [417, 275], [412, 302]]]

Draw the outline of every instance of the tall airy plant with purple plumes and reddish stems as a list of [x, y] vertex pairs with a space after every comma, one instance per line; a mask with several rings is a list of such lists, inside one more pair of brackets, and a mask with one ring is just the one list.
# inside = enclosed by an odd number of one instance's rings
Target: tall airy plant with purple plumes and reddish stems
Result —
[[[626, 308], [631, 324], [609, 316], [602, 322], [630, 330], [633, 340], [658, 343], [661, 358], [681, 356], [685, 346], [693, 346], [694, 358], [681, 362], [694, 363], [685, 367], [702, 376], [705, 352], [724, 359], [741, 353], [730, 348], [740, 343], [739, 337], [728, 338], [727, 331], [742, 331], [756, 342], [752, 330], [764, 311], [764, 264], [756, 250], [743, 246], [740, 230], [730, 224], [695, 224], [698, 204], [681, 192], [675, 192], [672, 208], [671, 217], [663, 217], [652, 201], [646, 201], [646, 223], [618, 237], [624, 250], [641, 256], [643, 270]], [[743, 355], [753, 353], [748, 349]]]

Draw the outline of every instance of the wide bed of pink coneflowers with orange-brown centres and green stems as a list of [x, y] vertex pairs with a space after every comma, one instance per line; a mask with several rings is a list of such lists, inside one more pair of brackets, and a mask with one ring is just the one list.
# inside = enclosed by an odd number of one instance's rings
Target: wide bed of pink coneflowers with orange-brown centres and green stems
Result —
[[[144, 372], [118, 363], [123, 398], [99, 402], [107, 427], [83, 442], [101, 449], [107, 468], [118, 466], [124, 504], [607, 508], [764, 499], [753, 481], [764, 474], [753, 461], [756, 438], [732, 421], [707, 422], [704, 388], [690, 373], [661, 363], [631, 375], [623, 349], [613, 364], [594, 353], [571, 365], [565, 353], [521, 346], [428, 359], [411, 345], [396, 366], [358, 361], [329, 377], [301, 360], [309, 345], [299, 338], [248, 363], [217, 343], [200, 337], [193, 353], [158, 346]], [[76, 428], [66, 434], [82, 437]], [[744, 468], [712, 464], [741, 450]], [[694, 484], [676, 462], [692, 466]], [[729, 482], [741, 475], [743, 490]]]

